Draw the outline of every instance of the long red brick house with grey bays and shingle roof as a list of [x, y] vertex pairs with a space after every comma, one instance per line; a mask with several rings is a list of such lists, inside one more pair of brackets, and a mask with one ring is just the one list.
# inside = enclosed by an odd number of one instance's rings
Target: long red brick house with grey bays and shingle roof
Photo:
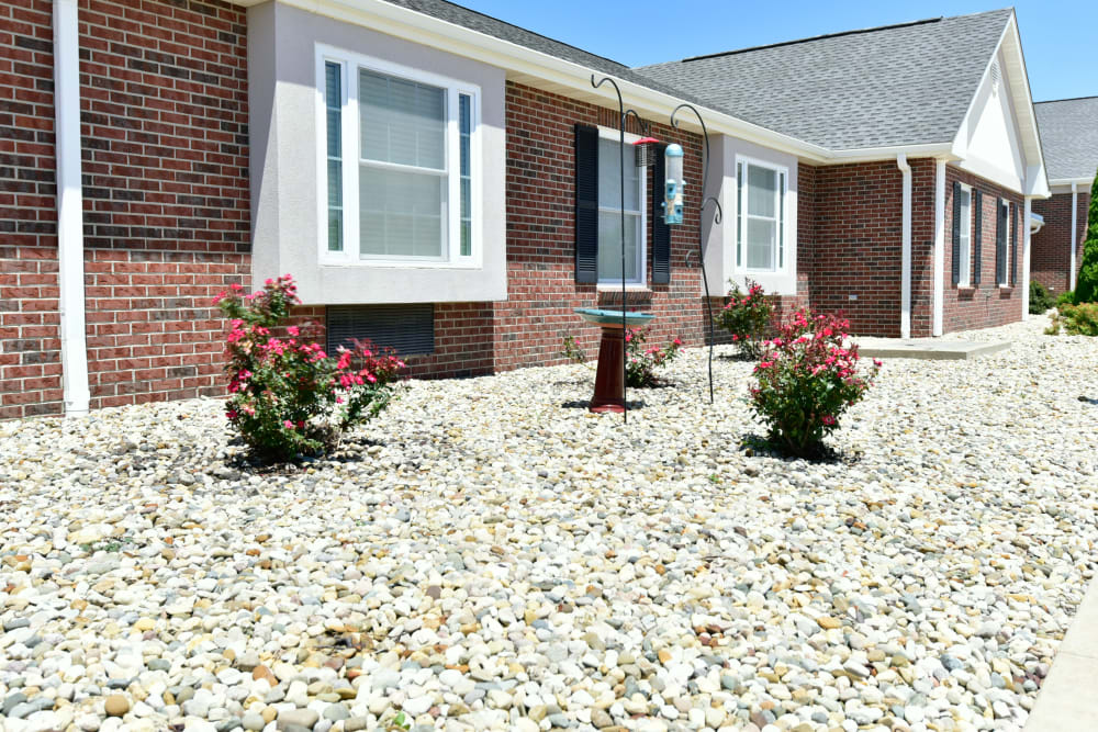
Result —
[[[683, 225], [592, 75], [684, 147]], [[559, 363], [620, 305], [623, 209], [656, 339], [704, 342], [699, 232], [714, 294], [998, 325], [1047, 195], [1010, 10], [632, 69], [441, 0], [3, 3], [0, 180], [0, 418], [221, 394], [213, 297], [283, 272], [416, 375]]]

